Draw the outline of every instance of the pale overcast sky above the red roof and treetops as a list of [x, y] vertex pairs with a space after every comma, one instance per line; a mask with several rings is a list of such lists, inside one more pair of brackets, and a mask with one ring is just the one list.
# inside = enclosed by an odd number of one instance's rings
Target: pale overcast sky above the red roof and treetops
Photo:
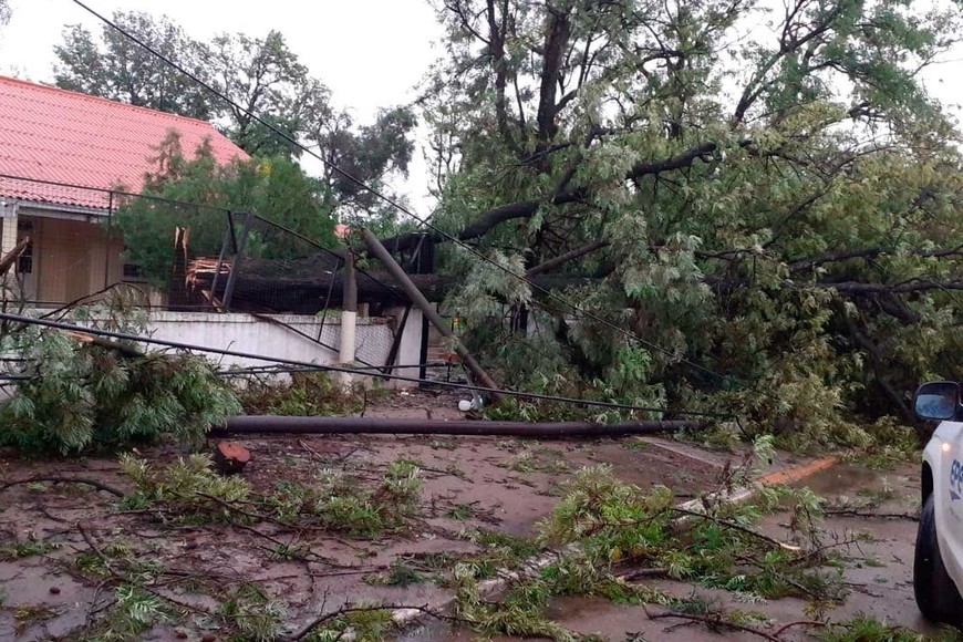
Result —
[[[428, 65], [441, 54], [441, 29], [427, 0], [84, 0], [110, 15], [116, 10], [167, 14], [188, 34], [284, 34], [290, 48], [333, 92], [334, 102], [370, 121], [379, 107], [410, 101]], [[778, 0], [774, 0], [778, 3]], [[101, 23], [71, 0], [10, 0], [13, 17], [0, 31], [0, 73], [35, 82], [53, 81], [53, 46], [65, 24]], [[960, 116], [963, 52], [926, 70], [925, 84]], [[410, 180], [398, 186], [420, 214], [431, 206], [421, 152]], [[309, 172], [310, 166], [307, 167]]]

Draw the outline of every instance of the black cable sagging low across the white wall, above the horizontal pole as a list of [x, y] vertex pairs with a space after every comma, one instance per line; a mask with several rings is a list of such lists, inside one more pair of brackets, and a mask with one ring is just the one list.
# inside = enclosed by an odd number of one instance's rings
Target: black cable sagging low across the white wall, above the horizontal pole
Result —
[[[102, 330], [99, 328], [84, 328], [83, 325], [74, 325], [72, 323], [64, 323], [62, 321], [50, 321], [46, 319], [34, 319], [32, 317], [24, 317], [22, 314], [10, 314], [8, 312], [0, 312], [0, 320], [11, 321], [13, 323], [24, 323], [28, 325], [40, 325], [42, 328], [51, 328], [54, 330], [63, 330], [66, 332], [75, 332], [75, 333], [80, 333], [80, 334], [93, 334], [95, 336], [105, 336], [105, 338], [115, 339], [118, 341], [131, 341], [134, 343], [147, 343], [147, 344], [152, 344], [152, 345], [163, 345], [164, 348], [173, 348], [175, 350], [184, 350], [184, 351], [188, 351], [188, 352], [189, 351], [209, 352], [213, 354], [221, 354], [224, 356], [234, 356], [237, 359], [250, 359], [253, 361], [267, 361], [269, 363], [279, 363], [282, 365], [290, 365], [290, 366], [300, 367], [300, 369], [304, 369], [304, 370], [312, 370], [312, 371], [320, 371], [320, 372], [336, 372], [336, 373], [342, 373], [342, 374], [367, 375], [367, 376], [375, 376], [377, 379], [387, 379], [387, 380], [393, 380], [393, 381], [405, 381], [408, 383], [417, 383], [417, 384], [426, 383], [425, 380], [416, 379], [414, 376], [404, 376], [401, 374], [382, 374], [382, 373], [372, 375], [371, 371], [365, 370], [365, 369], [348, 367], [348, 366], [343, 366], [343, 365], [322, 365], [319, 363], [310, 363], [307, 361], [298, 361], [294, 359], [283, 359], [280, 356], [268, 356], [266, 354], [255, 354], [251, 352], [241, 352], [238, 350], [227, 350], [227, 349], [222, 349], [222, 348], [210, 348], [210, 346], [206, 346], [206, 345], [196, 345], [193, 343], [185, 343], [183, 341], [168, 341], [166, 339], [155, 339], [154, 336], [141, 336], [138, 334], [131, 334], [128, 332], [115, 332], [112, 330]], [[512, 390], [485, 387], [485, 386], [480, 386], [480, 385], [472, 385], [472, 384], [466, 384], [466, 383], [441, 382], [441, 381], [431, 382], [431, 383], [434, 385], [442, 386], [442, 387], [451, 387], [451, 389], [455, 389], [455, 390], [468, 390], [468, 391], [474, 391], [474, 392], [484, 392], [484, 393], [488, 393], [488, 394], [500, 394], [500, 395], [505, 395], [505, 396], [514, 396], [514, 397], [518, 397], [518, 398], [526, 398], [526, 400], [532, 400], [532, 401], [549, 401], [549, 402], [574, 404], [574, 405], [613, 408], [613, 410], [675, 414], [675, 415], [680, 415], [680, 416], [710, 417], [710, 418], [719, 418], [719, 420], [731, 417], [731, 415], [724, 415], [722, 413], [695, 412], [695, 411], [671, 411], [669, 408], [663, 408], [663, 407], [636, 406], [636, 405], [631, 405], [631, 404], [619, 404], [619, 403], [613, 403], [613, 402], [581, 400], [581, 398], [574, 398], [574, 397], [538, 394], [538, 393], [534, 393], [534, 392], [520, 392], [520, 391], [512, 391]]]

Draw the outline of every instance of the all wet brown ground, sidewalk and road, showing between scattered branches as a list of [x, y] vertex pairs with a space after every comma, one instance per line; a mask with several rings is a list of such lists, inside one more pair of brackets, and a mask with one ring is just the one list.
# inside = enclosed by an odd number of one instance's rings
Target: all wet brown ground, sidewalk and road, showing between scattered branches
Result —
[[[460, 416], [457, 400], [444, 403], [421, 397], [395, 396], [366, 410], [367, 416]], [[0, 553], [14, 542], [43, 545], [42, 550], [7, 559], [0, 555], [0, 640], [82, 639], [85, 627], [110, 607], [116, 582], [87, 572], [84, 560], [100, 547], [128, 547], [141, 561], [159, 565], [167, 576], [158, 593], [179, 600], [186, 609], [216, 609], [203, 591], [183, 587], [191, 576], [225, 586], [240, 579], [257, 583], [288, 609], [287, 630], [297, 631], [323, 613], [352, 603], [391, 603], [443, 607], [453, 591], [439, 581], [456, 560], [484, 552], [483, 545], [466, 534], [490, 532], [529, 537], [538, 520], [548, 516], [565, 482], [582, 466], [605, 464], [622, 482], [643, 489], [665, 485], [680, 501], [696, 494], [721, 490], [724, 472], [738, 465], [742, 454], [708, 452], [692, 444], [663, 437], [624, 439], [535, 441], [495, 437], [275, 437], [241, 442], [253, 456], [244, 476], [256, 493], [268, 493], [279, 482], [310, 485], [322, 470], [341, 470], [361, 483], [376, 480], [395, 460], [415, 460], [422, 468], [422, 505], [410, 527], [380, 539], [352, 539], [320, 530], [293, 534], [273, 524], [239, 528], [228, 524], [164, 524], [149, 511], [122, 510], [116, 497], [87, 486], [18, 485], [0, 495]], [[176, 460], [174, 449], [145, 453], [156, 464]], [[780, 455], [765, 473], [800, 469], [807, 460]], [[131, 489], [115, 459], [91, 458], [63, 462], [18, 459], [0, 453], [0, 486], [35, 475], [77, 476], [100, 480], [122, 491]], [[807, 479], [815, 491], [833, 505], [866, 508], [876, 512], [909, 514], [919, 508], [918, 470], [907, 466], [878, 473], [837, 466]], [[869, 510], [869, 509], [867, 509]], [[773, 537], [786, 536], [785, 515], [764, 524]], [[869, 534], [871, 541], [847, 547], [846, 580], [850, 594], [829, 612], [832, 619], [868, 613], [918, 631], [933, 632], [919, 618], [910, 583], [915, 521], [912, 518], [871, 518], [833, 515], [824, 524], [826, 537]], [[266, 539], [267, 538], [267, 539]], [[317, 553], [311, 561], [277, 559], [273, 540], [304, 547]], [[271, 546], [268, 546], [271, 545]], [[402, 565], [416, 571], [408, 582], [389, 586], [384, 579]], [[653, 582], [681, 599], [702, 596], [723, 609], [753, 611], [764, 617], [762, 625], [776, 631], [806, 619], [800, 600], [745, 604], [724, 591], [684, 582]], [[657, 608], [614, 605], [588, 598], [566, 598], [551, 607], [559, 623], [608, 640], [741, 640], [743, 633], [711, 632], [700, 625], [679, 625], [653, 620]], [[179, 635], [200, 640], [221, 632], [200, 618], [175, 623]], [[685, 623], [682, 623], [685, 624]], [[174, 624], [172, 624], [173, 627]], [[142, 640], [170, 640], [172, 627], [155, 627]], [[805, 630], [780, 635], [805, 638]], [[80, 638], [77, 638], [80, 635]], [[178, 635], [178, 638], [179, 638]], [[795, 638], [794, 638], [795, 635]], [[400, 640], [474, 640], [467, 631], [437, 622], [413, 627]], [[510, 640], [505, 638], [504, 640]]]

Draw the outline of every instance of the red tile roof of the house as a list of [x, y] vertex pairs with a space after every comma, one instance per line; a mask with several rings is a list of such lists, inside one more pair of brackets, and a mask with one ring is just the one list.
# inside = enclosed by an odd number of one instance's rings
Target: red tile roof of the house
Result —
[[[138, 191], [172, 130], [188, 155], [209, 138], [219, 163], [248, 157], [210, 123], [0, 76], [0, 175]], [[107, 207], [104, 193], [10, 178], [0, 196]]]

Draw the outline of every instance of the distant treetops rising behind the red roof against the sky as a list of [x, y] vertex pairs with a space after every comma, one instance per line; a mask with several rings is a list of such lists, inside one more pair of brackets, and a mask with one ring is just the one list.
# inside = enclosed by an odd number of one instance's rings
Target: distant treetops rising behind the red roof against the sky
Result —
[[[251, 114], [290, 138], [319, 148], [365, 183], [384, 185], [406, 175], [415, 127], [412, 110], [385, 108], [359, 126], [332, 103], [331, 93], [291, 51], [284, 37], [220, 34], [191, 39], [168, 18], [139, 11], [115, 12], [113, 21], [213, 86], [237, 108], [207, 92], [163, 60], [104, 25], [99, 34], [74, 24], [55, 48], [56, 85], [163, 112], [214, 122], [251, 156], [298, 157], [300, 148], [265, 127]], [[352, 182], [325, 173], [334, 201], [349, 214], [374, 203]]]

